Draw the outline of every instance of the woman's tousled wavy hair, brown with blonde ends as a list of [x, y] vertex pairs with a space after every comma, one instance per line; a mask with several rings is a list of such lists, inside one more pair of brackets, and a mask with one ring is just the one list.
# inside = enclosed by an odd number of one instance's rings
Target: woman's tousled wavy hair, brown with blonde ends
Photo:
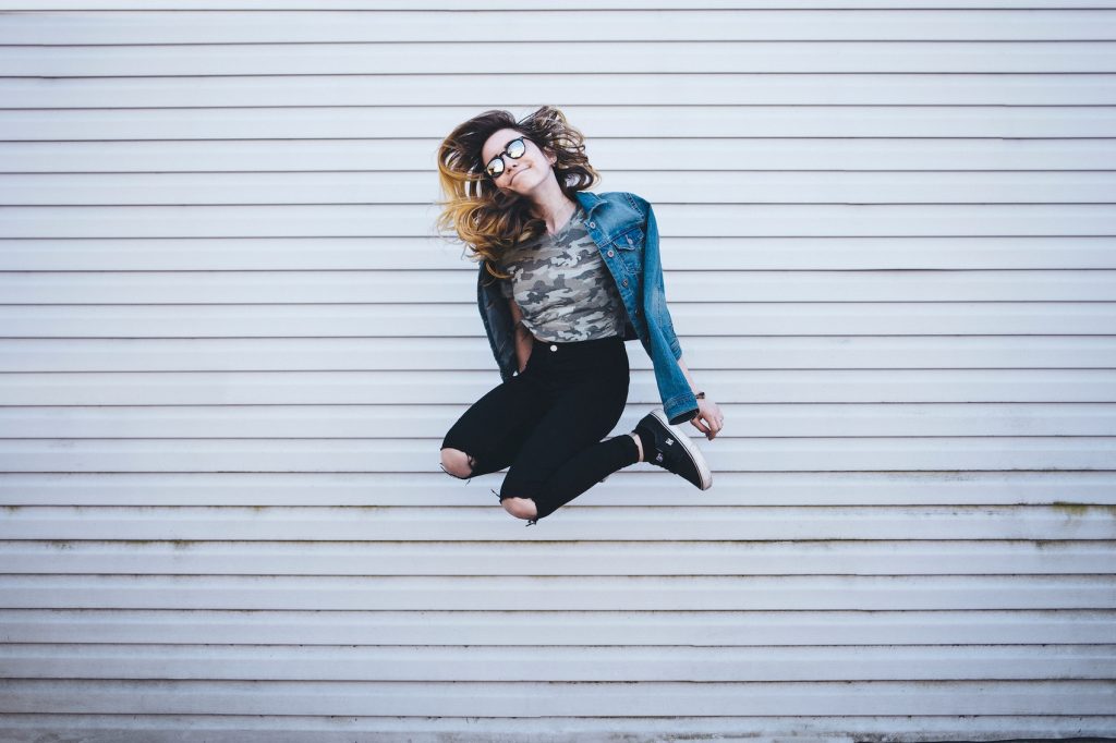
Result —
[[442, 212], [437, 229], [456, 233], [485, 263], [488, 272], [508, 278], [494, 268], [509, 248], [546, 233], [546, 222], [530, 213], [531, 203], [519, 194], [499, 189], [484, 172], [481, 148], [500, 129], [514, 129], [540, 149], [555, 154], [555, 176], [562, 193], [574, 194], [595, 185], [600, 175], [589, 165], [585, 137], [554, 106], [542, 106], [520, 120], [507, 110], [491, 109], [459, 125], [437, 149], [437, 176], [445, 200], [437, 202]]

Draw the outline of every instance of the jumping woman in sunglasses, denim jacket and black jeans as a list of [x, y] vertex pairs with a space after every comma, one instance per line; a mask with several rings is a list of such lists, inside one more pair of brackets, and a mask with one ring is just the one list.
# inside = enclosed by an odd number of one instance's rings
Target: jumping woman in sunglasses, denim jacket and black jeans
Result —
[[[502, 378], [445, 434], [442, 469], [466, 479], [508, 467], [492, 492], [527, 525], [636, 462], [708, 490], [709, 465], [677, 424], [712, 441], [724, 417], [682, 360], [651, 204], [590, 193], [599, 175], [584, 137], [552, 106], [519, 122], [484, 112], [437, 160], [437, 225], [480, 262], [478, 306]], [[663, 406], [602, 441], [627, 403], [624, 341], [635, 339]]]

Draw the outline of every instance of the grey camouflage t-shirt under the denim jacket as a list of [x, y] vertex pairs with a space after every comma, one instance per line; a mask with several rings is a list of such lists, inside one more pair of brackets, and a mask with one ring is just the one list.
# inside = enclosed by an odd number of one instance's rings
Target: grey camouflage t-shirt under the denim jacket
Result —
[[516, 298], [523, 326], [539, 340], [570, 342], [619, 336], [627, 313], [616, 282], [585, 226], [578, 205], [556, 234], [543, 234], [506, 252], [500, 282]]

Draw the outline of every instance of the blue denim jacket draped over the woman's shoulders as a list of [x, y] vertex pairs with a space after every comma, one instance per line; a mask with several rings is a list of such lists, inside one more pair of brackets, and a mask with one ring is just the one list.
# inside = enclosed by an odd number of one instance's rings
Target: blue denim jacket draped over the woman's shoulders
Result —
[[[663, 411], [671, 423], [689, 421], [698, 413], [698, 401], [677, 364], [682, 346], [666, 309], [658, 226], [651, 204], [619, 191], [579, 191], [575, 195], [585, 210], [589, 235], [624, 300], [624, 340], [638, 338], [651, 357]], [[500, 293], [496, 277], [487, 272], [484, 261], [477, 277], [477, 302], [500, 376], [507, 382], [518, 369], [514, 326], [508, 300]]]

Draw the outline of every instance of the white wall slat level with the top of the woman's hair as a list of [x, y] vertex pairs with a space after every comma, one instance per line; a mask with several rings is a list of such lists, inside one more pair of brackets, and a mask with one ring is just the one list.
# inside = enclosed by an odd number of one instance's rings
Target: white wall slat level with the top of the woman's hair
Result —
[[[504, 88], [493, 91], [506, 99]], [[604, 94], [602, 94], [604, 97]], [[231, 97], [230, 97], [231, 98]], [[713, 96], [710, 96], [712, 99]], [[475, 115], [478, 106], [431, 106], [422, 103], [381, 108], [374, 99], [360, 106], [289, 107], [272, 105], [237, 108], [232, 105], [190, 108], [189, 114], [170, 106], [106, 112], [96, 108], [6, 110], [0, 135], [9, 142], [70, 139], [268, 139], [444, 137], [456, 124]], [[227, 100], [227, 103], [232, 103]], [[523, 115], [531, 104], [509, 102]], [[686, 132], [689, 137], [827, 138], [1107, 138], [1116, 125], [1116, 110], [1103, 105], [1042, 106], [950, 102], [912, 102], [888, 106], [884, 102], [811, 106], [769, 104], [718, 107], [702, 105], [628, 104], [608, 106], [597, 102], [562, 106], [567, 116], [586, 132], [600, 137], [663, 138]], [[127, 116], [122, 116], [126, 113]], [[821, 115], [819, 115], [821, 114]], [[355, 145], [359, 146], [359, 145]], [[997, 147], [997, 145], [990, 145]], [[993, 149], [997, 152], [998, 149]], [[432, 152], [432, 151], [431, 151]], [[433, 154], [426, 162], [432, 164]], [[862, 164], [862, 167], [868, 163]], [[886, 166], [886, 160], [877, 167]], [[700, 170], [700, 168], [699, 168]], [[433, 174], [432, 174], [433, 175]], [[616, 178], [610, 180], [616, 183]], [[614, 186], [609, 186], [614, 187]], [[623, 190], [623, 189], [617, 189]], [[1068, 225], [1067, 225], [1068, 226]], [[320, 234], [320, 233], [318, 233]], [[93, 237], [93, 235], [90, 235]], [[187, 237], [187, 235], [183, 235]]]

